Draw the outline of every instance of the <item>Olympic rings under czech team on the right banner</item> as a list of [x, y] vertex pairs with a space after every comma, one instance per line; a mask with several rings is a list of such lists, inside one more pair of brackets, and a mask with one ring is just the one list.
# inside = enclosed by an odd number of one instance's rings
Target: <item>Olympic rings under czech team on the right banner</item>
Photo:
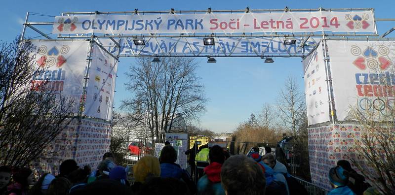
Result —
[[390, 98], [386, 99], [375, 98], [370, 99], [363, 97], [358, 100], [358, 108], [364, 111], [378, 111], [384, 116], [390, 116], [395, 111], [395, 99]]

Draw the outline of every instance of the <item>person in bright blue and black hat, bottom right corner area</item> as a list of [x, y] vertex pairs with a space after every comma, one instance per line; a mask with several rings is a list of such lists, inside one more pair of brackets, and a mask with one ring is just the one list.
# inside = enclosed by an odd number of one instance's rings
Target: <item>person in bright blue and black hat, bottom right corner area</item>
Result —
[[349, 173], [341, 166], [332, 167], [329, 170], [329, 180], [334, 188], [328, 195], [355, 195], [355, 193], [347, 186], [349, 183]]

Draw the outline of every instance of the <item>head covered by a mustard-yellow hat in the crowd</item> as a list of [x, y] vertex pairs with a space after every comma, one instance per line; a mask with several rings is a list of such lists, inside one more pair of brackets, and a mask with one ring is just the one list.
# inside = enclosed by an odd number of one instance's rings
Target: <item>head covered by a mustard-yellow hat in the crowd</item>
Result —
[[145, 156], [141, 158], [133, 166], [133, 176], [135, 181], [144, 183], [147, 177], [160, 176], [159, 160], [153, 156]]

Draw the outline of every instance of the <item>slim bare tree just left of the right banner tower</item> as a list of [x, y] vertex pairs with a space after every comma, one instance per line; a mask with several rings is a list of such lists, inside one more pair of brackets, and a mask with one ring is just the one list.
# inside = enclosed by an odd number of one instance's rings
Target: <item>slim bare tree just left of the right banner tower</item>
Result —
[[303, 122], [305, 107], [303, 92], [300, 91], [296, 79], [289, 76], [285, 80], [284, 88], [278, 93], [277, 110], [279, 120], [294, 135]]

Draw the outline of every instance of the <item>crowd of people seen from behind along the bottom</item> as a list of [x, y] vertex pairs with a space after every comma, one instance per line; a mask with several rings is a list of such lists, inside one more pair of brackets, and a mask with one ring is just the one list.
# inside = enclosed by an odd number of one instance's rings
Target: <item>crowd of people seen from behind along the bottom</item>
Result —
[[[270, 150], [263, 156], [258, 151], [252, 151], [247, 156], [229, 156], [218, 145], [200, 151], [205, 151], [202, 154], [207, 155], [209, 163], [203, 168], [203, 174], [198, 177], [197, 183], [190, 172], [175, 163], [177, 152], [171, 145], [166, 144], [159, 158], [144, 156], [136, 162], [132, 169], [133, 184], [127, 178], [129, 167], [117, 165], [114, 156], [106, 153], [96, 170], [91, 170], [89, 166], [80, 168], [74, 160], [66, 160], [60, 165], [58, 175], [47, 173], [37, 182], [34, 181], [30, 168], [11, 169], [0, 166], [0, 195], [308, 194], [288, 174], [286, 166], [276, 161]], [[189, 152], [192, 160], [198, 158], [198, 153]], [[194, 161], [190, 158], [190, 163], [192, 162]], [[334, 187], [329, 195], [378, 193], [370, 188], [363, 176], [352, 169], [348, 161], [339, 161], [337, 166], [329, 170], [328, 175]]]

